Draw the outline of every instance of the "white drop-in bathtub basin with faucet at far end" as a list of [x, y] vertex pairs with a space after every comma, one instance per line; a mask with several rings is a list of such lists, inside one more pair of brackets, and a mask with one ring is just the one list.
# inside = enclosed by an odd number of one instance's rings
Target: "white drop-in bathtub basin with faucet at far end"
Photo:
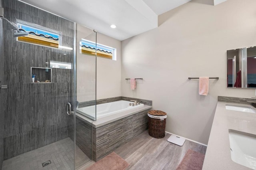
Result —
[[[100, 119], [102, 117], [106, 117], [109, 115], [114, 115], [114, 114], [122, 113], [124, 111], [144, 107], [144, 104], [140, 104], [137, 106], [130, 106], [129, 105], [130, 103], [134, 103], [134, 102], [120, 100], [120, 101], [114, 101], [110, 103], [96, 105], [96, 111], [97, 111], [96, 118]], [[76, 113], [79, 113], [90, 119], [95, 120], [95, 105], [78, 108], [76, 109]]]

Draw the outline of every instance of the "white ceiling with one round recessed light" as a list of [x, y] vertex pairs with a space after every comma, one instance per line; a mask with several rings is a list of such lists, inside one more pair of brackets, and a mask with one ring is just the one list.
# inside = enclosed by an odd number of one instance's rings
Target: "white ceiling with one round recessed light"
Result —
[[[122, 41], [158, 27], [158, 15], [190, 0], [21, 1]], [[110, 28], [112, 24], [116, 28]]]

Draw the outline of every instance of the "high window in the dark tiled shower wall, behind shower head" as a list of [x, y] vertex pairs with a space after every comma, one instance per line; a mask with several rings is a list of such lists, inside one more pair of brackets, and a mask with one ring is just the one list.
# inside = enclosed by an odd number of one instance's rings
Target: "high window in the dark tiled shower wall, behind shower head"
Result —
[[61, 32], [22, 20], [18, 20], [18, 28], [21, 32], [29, 32], [28, 36], [18, 37], [18, 41], [20, 42], [33, 43], [54, 48], [59, 48], [61, 45]]

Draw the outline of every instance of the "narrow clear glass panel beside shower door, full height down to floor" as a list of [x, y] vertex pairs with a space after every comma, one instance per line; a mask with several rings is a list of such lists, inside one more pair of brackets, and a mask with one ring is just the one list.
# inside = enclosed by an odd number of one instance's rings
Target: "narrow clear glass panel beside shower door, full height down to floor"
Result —
[[[96, 120], [96, 32], [76, 24], [76, 168], [92, 159], [92, 121]], [[91, 42], [90, 47], [83, 40]], [[86, 52], [85, 49], [90, 49]]]

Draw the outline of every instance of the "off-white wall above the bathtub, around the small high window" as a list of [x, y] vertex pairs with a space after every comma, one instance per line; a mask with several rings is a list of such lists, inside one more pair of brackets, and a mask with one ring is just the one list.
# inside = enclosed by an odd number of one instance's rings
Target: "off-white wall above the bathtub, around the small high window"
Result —
[[116, 48], [117, 59], [113, 61], [97, 57], [95, 60], [94, 56], [79, 52], [82, 38], [95, 42], [96, 34], [89, 28], [77, 25], [77, 100], [92, 101], [95, 94], [97, 100], [121, 96], [121, 42], [97, 32], [97, 43]]

